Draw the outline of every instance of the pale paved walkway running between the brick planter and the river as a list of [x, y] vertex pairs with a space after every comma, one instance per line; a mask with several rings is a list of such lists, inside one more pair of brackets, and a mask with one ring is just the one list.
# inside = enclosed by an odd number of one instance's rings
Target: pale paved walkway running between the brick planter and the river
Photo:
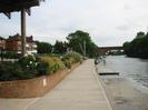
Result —
[[0, 110], [112, 110], [97, 78], [93, 60], [87, 60], [42, 98], [0, 99]]

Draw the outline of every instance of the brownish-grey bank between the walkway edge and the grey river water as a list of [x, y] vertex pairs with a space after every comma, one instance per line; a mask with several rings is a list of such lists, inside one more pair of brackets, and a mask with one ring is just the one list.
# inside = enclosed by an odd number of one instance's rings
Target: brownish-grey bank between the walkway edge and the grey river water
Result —
[[[99, 67], [98, 72], [101, 69]], [[146, 88], [122, 76], [106, 76], [100, 77], [100, 80], [114, 110], [148, 110]]]

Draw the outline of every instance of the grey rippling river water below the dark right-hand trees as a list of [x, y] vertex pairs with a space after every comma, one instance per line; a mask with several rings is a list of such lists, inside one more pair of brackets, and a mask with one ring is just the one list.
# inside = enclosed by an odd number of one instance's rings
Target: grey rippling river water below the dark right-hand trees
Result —
[[126, 56], [108, 56], [103, 64], [148, 88], [148, 60]]

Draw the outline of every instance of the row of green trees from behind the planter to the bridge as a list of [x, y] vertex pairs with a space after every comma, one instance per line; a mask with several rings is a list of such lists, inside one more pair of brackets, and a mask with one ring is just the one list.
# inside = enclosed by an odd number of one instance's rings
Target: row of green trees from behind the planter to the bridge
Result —
[[78, 30], [76, 32], [69, 33], [66, 39], [67, 42], [57, 40], [53, 46], [48, 42], [36, 41], [38, 46], [37, 51], [38, 53], [57, 54], [63, 54], [68, 51], [76, 51], [90, 58], [99, 56], [98, 47], [93, 43], [88, 32]]

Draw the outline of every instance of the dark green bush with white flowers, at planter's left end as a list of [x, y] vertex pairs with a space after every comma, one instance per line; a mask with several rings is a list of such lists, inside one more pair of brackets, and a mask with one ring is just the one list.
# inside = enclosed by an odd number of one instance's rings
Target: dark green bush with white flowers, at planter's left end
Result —
[[38, 76], [37, 61], [32, 56], [23, 57], [18, 62], [0, 63], [0, 80], [22, 80]]

